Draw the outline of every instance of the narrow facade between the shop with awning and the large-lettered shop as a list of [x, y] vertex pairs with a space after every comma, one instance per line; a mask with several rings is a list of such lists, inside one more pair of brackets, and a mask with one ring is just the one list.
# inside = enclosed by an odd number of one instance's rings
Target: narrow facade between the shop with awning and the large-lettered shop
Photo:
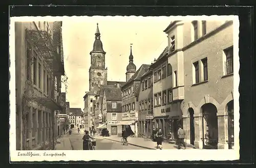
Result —
[[148, 69], [140, 79], [138, 133], [150, 137], [153, 130], [153, 71]]

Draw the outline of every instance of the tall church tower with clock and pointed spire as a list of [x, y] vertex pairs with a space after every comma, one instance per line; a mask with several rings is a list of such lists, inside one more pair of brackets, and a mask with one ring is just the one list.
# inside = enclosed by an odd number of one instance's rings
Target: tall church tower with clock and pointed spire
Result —
[[89, 69], [89, 89], [98, 91], [101, 85], [107, 85], [107, 69], [105, 68], [105, 51], [100, 41], [99, 27], [97, 23], [95, 41], [91, 55], [91, 67]]

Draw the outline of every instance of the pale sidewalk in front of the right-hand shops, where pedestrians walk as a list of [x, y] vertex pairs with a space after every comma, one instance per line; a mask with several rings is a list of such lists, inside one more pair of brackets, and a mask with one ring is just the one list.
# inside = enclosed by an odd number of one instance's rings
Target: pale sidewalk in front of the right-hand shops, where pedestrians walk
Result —
[[[120, 142], [121, 138], [120, 136], [109, 136], [109, 137], [103, 137], [104, 139], [109, 139], [111, 141]], [[137, 147], [145, 148], [145, 149], [157, 149], [157, 143], [153, 141], [144, 141], [144, 138], [142, 137], [128, 137], [128, 142], [130, 145], [134, 145]], [[178, 147], [174, 144], [169, 143], [162, 143], [163, 149], [178, 149]], [[183, 147], [181, 147], [183, 149]], [[186, 149], [193, 149], [192, 147], [187, 147]]]

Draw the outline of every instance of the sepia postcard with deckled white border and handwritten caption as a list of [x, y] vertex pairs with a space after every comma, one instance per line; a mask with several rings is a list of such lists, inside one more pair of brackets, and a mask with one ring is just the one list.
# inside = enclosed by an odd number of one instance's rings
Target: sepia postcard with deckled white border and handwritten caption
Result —
[[239, 159], [238, 44], [238, 16], [11, 17], [10, 161]]

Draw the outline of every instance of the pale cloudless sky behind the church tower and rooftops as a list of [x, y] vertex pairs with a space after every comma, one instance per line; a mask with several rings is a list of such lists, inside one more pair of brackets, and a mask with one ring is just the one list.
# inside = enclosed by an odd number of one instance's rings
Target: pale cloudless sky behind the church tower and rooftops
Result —
[[[170, 17], [93, 16], [70, 17], [62, 21], [65, 72], [68, 76], [67, 100], [70, 107], [84, 108], [83, 96], [89, 91], [90, 51], [97, 23], [108, 67], [108, 80], [125, 81], [130, 44], [137, 70], [151, 64], [168, 45]], [[62, 87], [65, 92], [65, 87]]]

